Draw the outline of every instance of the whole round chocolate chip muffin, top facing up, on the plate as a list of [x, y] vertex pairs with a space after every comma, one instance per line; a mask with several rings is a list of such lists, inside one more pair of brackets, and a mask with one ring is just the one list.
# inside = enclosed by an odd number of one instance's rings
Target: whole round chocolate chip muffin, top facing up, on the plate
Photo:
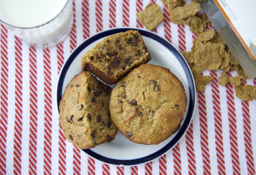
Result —
[[170, 70], [141, 64], [121, 78], [110, 100], [111, 119], [129, 140], [158, 144], [181, 127], [187, 97]]

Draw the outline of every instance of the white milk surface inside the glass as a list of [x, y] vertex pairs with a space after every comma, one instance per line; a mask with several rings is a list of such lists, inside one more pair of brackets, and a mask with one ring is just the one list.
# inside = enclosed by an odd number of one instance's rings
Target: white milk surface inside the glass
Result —
[[15, 27], [47, 23], [63, 9], [67, 0], [0, 0], [3, 21]]

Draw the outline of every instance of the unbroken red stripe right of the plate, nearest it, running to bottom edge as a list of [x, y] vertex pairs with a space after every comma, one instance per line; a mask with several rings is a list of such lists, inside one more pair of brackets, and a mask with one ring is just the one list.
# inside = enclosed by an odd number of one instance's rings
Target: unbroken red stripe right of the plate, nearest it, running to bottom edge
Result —
[[199, 102], [199, 115], [200, 115], [200, 138], [201, 138], [201, 150], [203, 156], [203, 171], [204, 174], [210, 174], [210, 155], [208, 145], [208, 126], [207, 126], [207, 114], [206, 114], [206, 102], [204, 92], [198, 93]]

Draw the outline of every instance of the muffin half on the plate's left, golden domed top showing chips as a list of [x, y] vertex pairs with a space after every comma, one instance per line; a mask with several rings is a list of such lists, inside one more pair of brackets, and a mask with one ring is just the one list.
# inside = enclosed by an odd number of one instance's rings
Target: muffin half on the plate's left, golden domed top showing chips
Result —
[[109, 110], [111, 91], [89, 71], [70, 81], [59, 103], [59, 123], [69, 142], [88, 149], [115, 138], [117, 127]]

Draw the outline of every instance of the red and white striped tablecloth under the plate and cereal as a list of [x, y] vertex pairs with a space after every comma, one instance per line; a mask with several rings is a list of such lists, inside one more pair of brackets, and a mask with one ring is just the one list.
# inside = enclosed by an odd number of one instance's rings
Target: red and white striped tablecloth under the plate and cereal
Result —
[[[166, 16], [154, 32], [179, 51], [189, 51], [197, 36], [186, 25], [170, 23], [160, 0], [73, 0], [71, 34], [50, 49], [29, 47], [0, 26], [0, 174], [255, 174], [256, 100], [242, 101], [231, 84], [220, 86], [219, 70], [203, 72], [214, 80], [205, 92], [197, 93], [187, 133], [153, 162], [133, 167], [102, 164], [63, 136], [55, 107], [62, 64], [79, 43], [99, 31], [144, 28], [136, 13], [150, 2], [158, 4]], [[256, 79], [245, 83], [256, 86]]]

